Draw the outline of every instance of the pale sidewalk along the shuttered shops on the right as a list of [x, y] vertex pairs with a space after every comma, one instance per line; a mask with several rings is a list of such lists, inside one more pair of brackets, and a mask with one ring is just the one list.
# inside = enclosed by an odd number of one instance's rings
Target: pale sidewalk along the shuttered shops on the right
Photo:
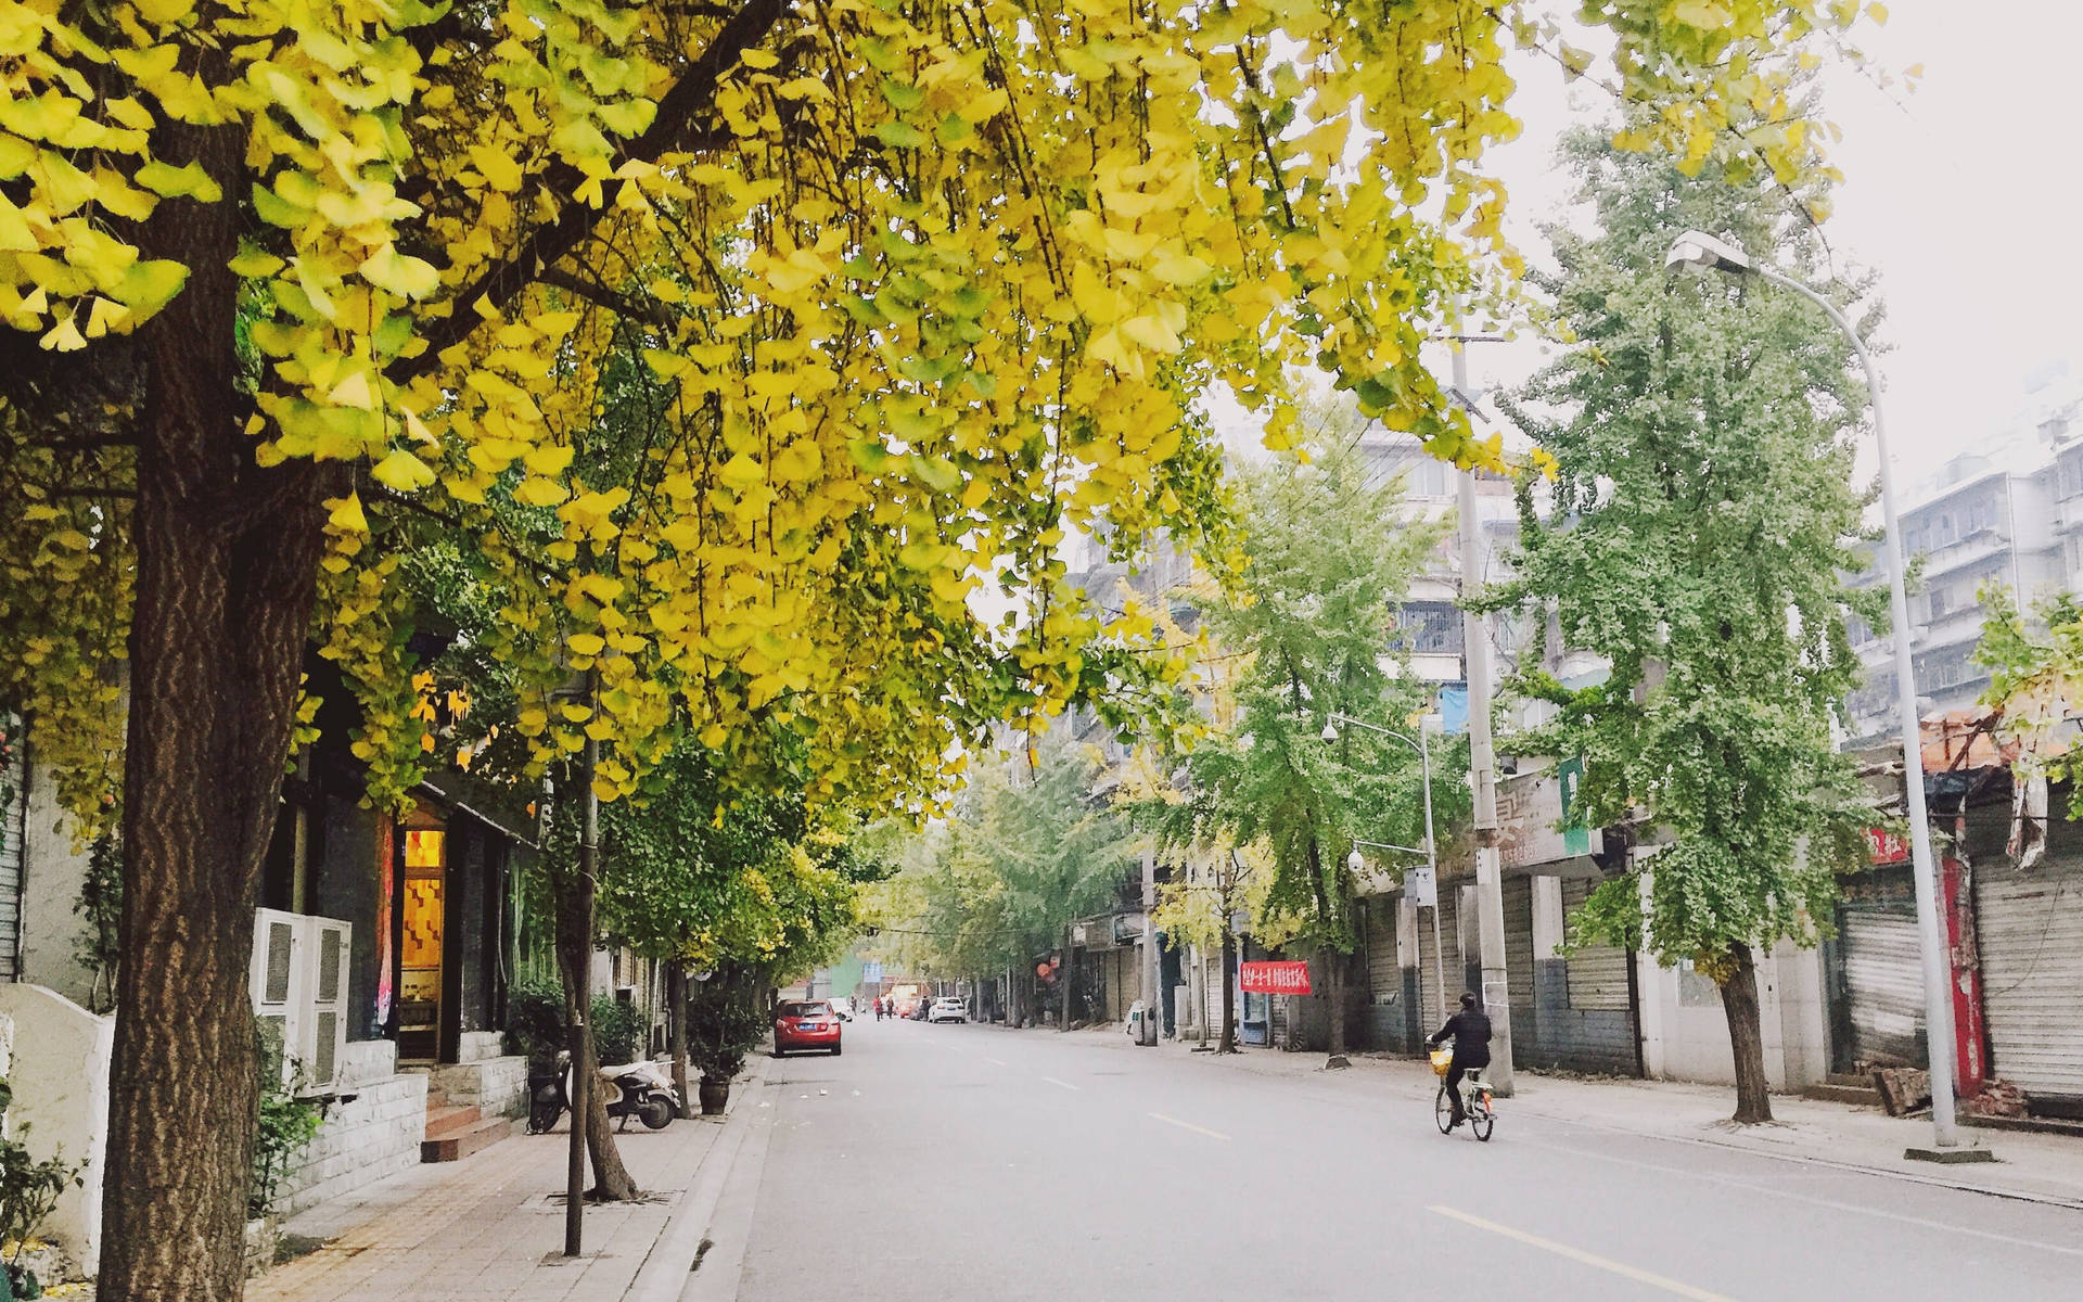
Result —
[[[1119, 1027], [1064, 1035], [1121, 1052], [1150, 1052], [1139, 1050]], [[1427, 1062], [1402, 1056], [1350, 1054], [1350, 1069], [1325, 1071], [1325, 1054], [1291, 1054], [1277, 1048], [1202, 1054], [1191, 1052], [1196, 1044], [1164, 1042], [1156, 1052], [1191, 1058], [1210, 1071], [1308, 1079], [1312, 1085], [1352, 1092], [1356, 1098], [1391, 1094], [1423, 1104], [1437, 1090], [1437, 1077]], [[2083, 1208], [2083, 1140], [2071, 1135], [1962, 1127], [1966, 1142], [1989, 1148], [1998, 1160], [1939, 1167], [1902, 1156], [1910, 1146], [1931, 1144], [1929, 1115], [1887, 1117], [1879, 1108], [1787, 1094], [1773, 1096], [1771, 1125], [1735, 1125], [1729, 1121], [1731, 1110], [1735, 1110], [1733, 1085], [1552, 1077], [1525, 1071], [1519, 1073], [1516, 1094], [1498, 1104], [1506, 1127], [1512, 1112], [1525, 1112], [1593, 1129], [1739, 1148], [1789, 1162], [1846, 1167], [1950, 1190]]]

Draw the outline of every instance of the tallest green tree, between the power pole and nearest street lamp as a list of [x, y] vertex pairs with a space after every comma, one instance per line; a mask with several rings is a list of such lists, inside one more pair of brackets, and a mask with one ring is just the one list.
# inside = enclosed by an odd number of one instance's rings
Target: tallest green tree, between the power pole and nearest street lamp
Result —
[[[1846, 585], [1866, 567], [1852, 479], [1866, 394], [1843, 337], [1798, 296], [1662, 273], [1696, 227], [1818, 279], [1823, 246], [1783, 204], [1604, 133], [1575, 133], [1564, 160], [1598, 212], [1589, 237], [1554, 233], [1548, 287], [1579, 344], [1527, 387], [1533, 406], [1512, 406], [1554, 483], [1521, 483], [1516, 577], [1483, 604], [1552, 610], [1564, 646], [1612, 665], [1566, 690], [1533, 669], [1535, 637], [1519, 683], [1560, 712], [1519, 750], [1581, 754], [1585, 817], [1648, 808], [1662, 842], [1591, 894], [1573, 942], [1714, 979], [1735, 1119], [1768, 1121], [1754, 950], [1818, 942], [1835, 875], [1866, 862], [1877, 821], [1831, 740], [1860, 677], [1846, 617], [1883, 621], [1881, 594]], [[1850, 306], [1858, 285], [1831, 294]]]

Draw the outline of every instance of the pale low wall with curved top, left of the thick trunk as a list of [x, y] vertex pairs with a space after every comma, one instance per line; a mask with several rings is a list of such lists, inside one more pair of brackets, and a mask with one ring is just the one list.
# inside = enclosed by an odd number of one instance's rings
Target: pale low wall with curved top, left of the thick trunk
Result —
[[92, 1271], [102, 1250], [108, 1062], [117, 1023], [27, 981], [0, 983], [0, 1017], [15, 1025], [6, 1073], [15, 1090], [10, 1133], [37, 1160], [85, 1162], [83, 1183], [58, 1198], [44, 1233]]

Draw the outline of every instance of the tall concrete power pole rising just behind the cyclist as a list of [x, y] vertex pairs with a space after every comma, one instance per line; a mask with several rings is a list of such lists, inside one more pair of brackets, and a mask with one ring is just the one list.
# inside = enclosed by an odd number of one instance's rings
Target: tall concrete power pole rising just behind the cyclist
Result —
[[[1462, 337], [1454, 346], [1454, 394], [1462, 406], [1469, 396], [1469, 350]], [[1460, 594], [1475, 596], [1483, 585], [1483, 527], [1477, 519], [1475, 471], [1460, 473]], [[1504, 965], [1504, 865], [1498, 854], [1498, 773], [1489, 752], [1489, 629], [1475, 610], [1460, 615], [1462, 644], [1469, 662], [1469, 777], [1475, 787], [1475, 917], [1483, 948], [1483, 1010], [1489, 1012], [1489, 1083], [1500, 1094], [1512, 1094], [1512, 996]]]

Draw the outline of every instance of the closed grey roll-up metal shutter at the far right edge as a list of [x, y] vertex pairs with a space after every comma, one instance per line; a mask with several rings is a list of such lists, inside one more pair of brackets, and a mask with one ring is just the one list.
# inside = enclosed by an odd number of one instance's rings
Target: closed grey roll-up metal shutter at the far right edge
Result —
[[1989, 1069], [2029, 1096], [2083, 1098], [2083, 860], [1975, 875]]

